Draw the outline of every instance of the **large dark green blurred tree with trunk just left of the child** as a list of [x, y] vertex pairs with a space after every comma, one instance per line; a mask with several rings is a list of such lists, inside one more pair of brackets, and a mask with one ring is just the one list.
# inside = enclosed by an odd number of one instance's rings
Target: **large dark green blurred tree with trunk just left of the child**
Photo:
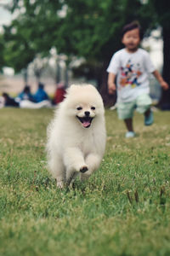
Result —
[[[138, 0], [65, 0], [63, 25], [57, 33], [56, 47], [67, 54], [83, 56], [94, 64], [94, 75], [105, 104], [116, 100], [107, 92], [107, 73], [111, 55], [122, 47], [122, 26], [140, 20], [144, 30], [151, 21], [151, 5]], [[151, 22], [150, 22], [151, 26]]]

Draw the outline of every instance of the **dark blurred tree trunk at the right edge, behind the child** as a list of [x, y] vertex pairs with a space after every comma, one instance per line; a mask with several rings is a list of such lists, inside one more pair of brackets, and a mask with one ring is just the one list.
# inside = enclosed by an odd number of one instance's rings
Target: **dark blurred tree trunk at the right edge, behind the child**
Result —
[[[150, 0], [156, 13], [156, 25], [162, 27], [163, 38], [163, 70], [162, 76], [170, 86], [170, 1]], [[168, 90], [162, 90], [160, 106], [163, 109], [170, 109], [170, 87]]]

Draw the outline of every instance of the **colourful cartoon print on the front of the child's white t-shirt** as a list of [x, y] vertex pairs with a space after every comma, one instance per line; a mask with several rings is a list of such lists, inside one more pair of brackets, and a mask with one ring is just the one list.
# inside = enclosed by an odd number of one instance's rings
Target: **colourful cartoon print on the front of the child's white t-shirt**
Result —
[[138, 81], [139, 76], [141, 75], [140, 65], [137, 63], [134, 65], [132, 61], [129, 59], [125, 67], [121, 67], [121, 79], [120, 84], [122, 87], [127, 85], [131, 85], [131, 88], [135, 88], [139, 86], [140, 83]]

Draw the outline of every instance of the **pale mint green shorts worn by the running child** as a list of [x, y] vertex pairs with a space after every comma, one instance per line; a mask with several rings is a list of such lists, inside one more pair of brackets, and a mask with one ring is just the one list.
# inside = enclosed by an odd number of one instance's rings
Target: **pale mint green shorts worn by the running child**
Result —
[[122, 102], [117, 104], [117, 113], [119, 119], [133, 118], [134, 109], [139, 113], [144, 113], [150, 108], [151, 99], [147, 94], [138, 96], [133, 102]]

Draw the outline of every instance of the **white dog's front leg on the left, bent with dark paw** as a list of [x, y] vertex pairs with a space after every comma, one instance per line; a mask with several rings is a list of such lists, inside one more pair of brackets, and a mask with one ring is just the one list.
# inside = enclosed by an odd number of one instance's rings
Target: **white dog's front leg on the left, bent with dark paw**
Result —
[[79, 148], [65, 150], [64, 162], [66, 166], [66, 183], [70, 184], [75, 172], [87, 172], [88, 166], [84, 161], [82, 151]]

